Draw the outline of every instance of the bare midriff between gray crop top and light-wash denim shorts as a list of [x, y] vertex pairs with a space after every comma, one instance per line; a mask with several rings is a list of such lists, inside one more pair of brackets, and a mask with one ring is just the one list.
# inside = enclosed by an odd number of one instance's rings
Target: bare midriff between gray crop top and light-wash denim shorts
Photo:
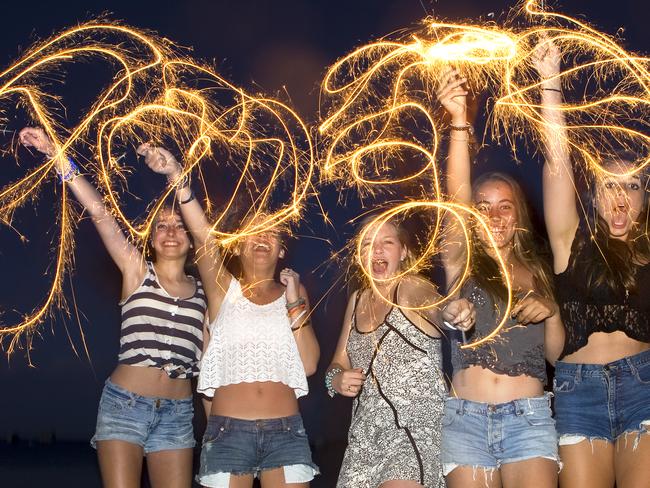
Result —
[[532, 376], [508, 376], [470, 366], [454, 374], [450, 394], [473, 402], [497, 404], [542, 396], [544, 385]]

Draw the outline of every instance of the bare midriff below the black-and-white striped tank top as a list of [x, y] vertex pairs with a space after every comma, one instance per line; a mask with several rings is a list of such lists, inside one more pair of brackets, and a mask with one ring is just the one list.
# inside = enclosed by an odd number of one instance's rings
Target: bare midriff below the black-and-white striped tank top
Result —
[[141, 396], [174, 400], [192, 396], [189, 379], [170, 378], [158, 368], [118, 364], [111, 374], [111, 382]]

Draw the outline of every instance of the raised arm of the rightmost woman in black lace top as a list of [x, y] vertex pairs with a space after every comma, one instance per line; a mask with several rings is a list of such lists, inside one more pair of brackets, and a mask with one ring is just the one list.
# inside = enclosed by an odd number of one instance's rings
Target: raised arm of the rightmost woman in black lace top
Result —
[[544, 141], [544, 220], [553, 250], [553, 268], [563, 272], [569, 263], [571, 244], [580, 217], [567, 139], [560, 85], [560, 51], [542, 39], [534, 53], [534, 65], [542, 79], [542, 137]]

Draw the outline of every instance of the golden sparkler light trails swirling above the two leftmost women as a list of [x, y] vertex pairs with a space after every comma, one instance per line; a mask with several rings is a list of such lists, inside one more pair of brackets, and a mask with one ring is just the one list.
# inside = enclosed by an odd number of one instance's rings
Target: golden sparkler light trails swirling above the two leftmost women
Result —
[[[76, 126], [66, 128], [57, 110], [59, 100], [48, 90], [52, 77], [66, 65], [82, 62], [108, 64], [113, 78]], [[86, 162], [85, 172], [94, 176], [109, 211], [136, 244], [144, 245], [157, 210], [174, 192], [173, 187], [165, 188], [137, 225], [122, 208], [121, 195], [133, 171], [125, 166], [125, 151], [133, 154], [133, 147], [149, 140], [181, 154], [183, 174], [201, 181], [212, 232], [223, 246], [297, 220], [310, 189], [312, 142], [289, 106], [250, 95], [213, 68], [183, 55], [171, 42], [130, 27], [88, 23], [32, 47], [0, 73], [0, 104], [4, 127], [8, 113], [24, 109], [57, 150], [54, 157], [0, 188], [0, 221], [5, 225], [11, 225], [16, 209], [37, 197], [44, 185], [58, 186], [57, 160], [71, 156]], [[15, 157], [18, 160], [17, 150]], [[236, 175], [231, 192], [217, 202], [223, 204], [218, 212], [205, 188], [208, 164], [216, 165], [224, 180]], [[23, 344], [29, 351], [38, 325], [53, 310], [67, 310], [62, 284], [72, 265], [77, 216], [66, 185], [57, 193], [51, 285], [47, 296], [21, 321], [0, 325], [0, 341], [9, 340], [7, 354]], [[235, 207], [246, 208], [246, 215], [238, 227], [227, 228]]]

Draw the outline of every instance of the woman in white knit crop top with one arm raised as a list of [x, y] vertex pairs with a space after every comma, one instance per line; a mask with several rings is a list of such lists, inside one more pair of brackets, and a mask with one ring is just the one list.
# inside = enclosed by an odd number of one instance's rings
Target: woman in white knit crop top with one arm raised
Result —
[[[175, 181], [181, 167], [169, 151], [149, 147], [149, 167]], [[235, 254], [241, 274], [225, 267], [201, 205], [179, 188], [181, 212], [197, 245], [197, 263], [208, 298], [209, 341], [198, 390], [206, 395], [203, 486], [306, 487], [317, 473], [297, 398], [308, 392], [319, 347], [309, 323], [309, 300], [291, 269], [275, 280], [284, 257], [277, 231], [242, 239]]]

